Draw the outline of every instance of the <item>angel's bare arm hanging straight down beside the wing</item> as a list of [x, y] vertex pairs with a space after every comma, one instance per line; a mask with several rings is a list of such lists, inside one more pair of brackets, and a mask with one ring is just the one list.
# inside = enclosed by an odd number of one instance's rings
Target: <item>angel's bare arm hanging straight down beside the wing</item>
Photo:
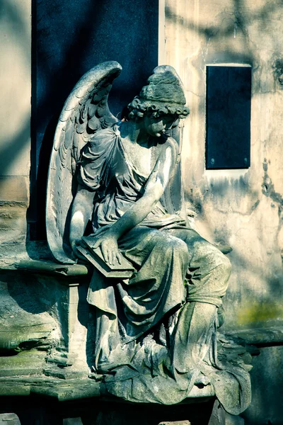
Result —
[[88, 220], [91, 218], [94, 194], [95, 191], [89, 191], [86, 186], [79, 185], [71, 208], [69, 240], [73, 251], [76, 251], [76, 244], [78, 244], [83, 237]]

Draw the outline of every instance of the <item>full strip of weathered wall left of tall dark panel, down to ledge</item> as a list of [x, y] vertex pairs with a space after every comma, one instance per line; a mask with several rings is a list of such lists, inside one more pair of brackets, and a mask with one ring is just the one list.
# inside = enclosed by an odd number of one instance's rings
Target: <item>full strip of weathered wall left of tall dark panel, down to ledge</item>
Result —
[[3, 0], [0, 12], [0, 256], [15, 256], [29, 196], [30, 0]]

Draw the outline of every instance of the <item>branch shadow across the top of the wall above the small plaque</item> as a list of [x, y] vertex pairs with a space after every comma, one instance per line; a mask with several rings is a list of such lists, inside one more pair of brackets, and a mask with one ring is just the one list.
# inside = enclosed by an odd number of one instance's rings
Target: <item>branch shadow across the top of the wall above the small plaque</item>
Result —
[[[262, 34], [262, 39], [259, 41], [262, 50], [270, 52], [270, 49], [272, 49], [272, 58], [268, 60], [267, 66], [277, 84], [283, 86], [282, 40], [278, 31], [272, 30], [271, 21], [272, 15], [281, 10], [281, 0], [265, 2], [264, 6], [258, 7], [256, 10], [250, 7], [247, 0], [230, 0], [230, 6], [229, 1], [227, 1], [226, 6], [216, 16], [218, 25], [214, 25], [215, 20], [212, 25], [204, 26], [200, 22], [196, 24], [195, 21], [184, 18], [182, 14], [176, 14], [170, 6], [166, 7], [166, 21], [177, 24], [184, 30], [191, 30], [192, 33], [197, 33], [205, 40], [205, 48], [199, 52], [199, 55], [192, 57], [192, 67], [196, 65], [204, 69], [205, 62], [240, 62], [250, 64], [253, 67], [253, 72], [261, 73], [265, 64], [261, 50], [251, 39], [253, 30], [250, 31], [250, 27], [253, 27], [258, 33]], [[279, 22], [279, 19], [280, 17], [276, 17], [275, 21]], [[242, 48], [241, 51], [233, 51], [231, 39], [236, 38], [236, 36], [238, 38], [238, 35], [241, 35]], [[219, 42], [221, 42], [220, 49], [219, 44], [217, 44]], [[269, 89], [262, 88], [256, 81], [253, 81], [253, 93], [255, 91], [268, 92]], [[197, 94], [197, 96], [199, 95]]]

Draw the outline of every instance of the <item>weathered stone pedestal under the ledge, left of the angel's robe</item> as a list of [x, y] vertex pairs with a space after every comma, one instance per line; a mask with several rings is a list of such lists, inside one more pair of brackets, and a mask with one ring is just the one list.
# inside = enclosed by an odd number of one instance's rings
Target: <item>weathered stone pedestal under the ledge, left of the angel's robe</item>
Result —
[[32, 260], [1, 268], [6, 314], [0, 318], [0, 376], [42, 369], [59, 378], [88, 375], [89, 272], [82, 265]]

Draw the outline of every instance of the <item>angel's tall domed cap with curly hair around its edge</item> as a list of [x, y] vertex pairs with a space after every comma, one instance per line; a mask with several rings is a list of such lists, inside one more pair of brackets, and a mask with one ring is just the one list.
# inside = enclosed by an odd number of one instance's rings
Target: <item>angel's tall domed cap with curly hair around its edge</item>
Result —
[[149, 114], [158, 118], [162, 115], [175, 115], [185, 118], [190, 109], [185, 106], [185, 95], [180, 78], [173, 67], [162, 65], [154, 69], [154, 74], [147, 80], [128, 105], [129, 119], [137, 120]]

